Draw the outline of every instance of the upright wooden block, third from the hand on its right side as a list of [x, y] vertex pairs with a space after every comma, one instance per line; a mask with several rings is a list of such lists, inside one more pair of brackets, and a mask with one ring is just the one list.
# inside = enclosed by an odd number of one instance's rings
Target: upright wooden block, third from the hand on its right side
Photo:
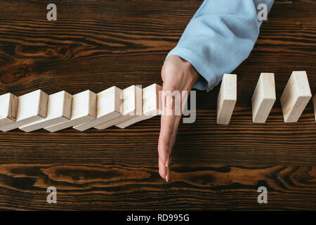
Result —
[[310, 98], [312, 93], [306, 72], [292, 72], [281, 96], [284, 122], [297, 122]]

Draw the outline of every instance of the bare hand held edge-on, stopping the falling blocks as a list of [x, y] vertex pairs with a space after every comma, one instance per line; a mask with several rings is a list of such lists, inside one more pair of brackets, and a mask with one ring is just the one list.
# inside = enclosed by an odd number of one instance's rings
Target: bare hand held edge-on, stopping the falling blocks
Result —
[[[193, 84], [197, 81], [198, 73], [191, 63], [183, 60], [179, 56], [169, 56], [162, 67], [162, 81], [164, 82], [162, 90], [165, 91], [187, 91], [190, 93]], [[171, 162], [171, 150], [176, 141], [178, 125], [181, 115], [175, 115], [175, 101], [173, 96], [166, 95], [162, 99], [163, 104], [169, 110], [172, 109], [172, 115], [162, 113], [162, 121], [158, 143], [159, 153], [159, 174], [163, 179], [169, 181]], [[185, 103], [182, 103], [185, 105]], [[182, 108], [181, 108], [182, 109]], [[182, 112], [182, 110], [181, 110]]]

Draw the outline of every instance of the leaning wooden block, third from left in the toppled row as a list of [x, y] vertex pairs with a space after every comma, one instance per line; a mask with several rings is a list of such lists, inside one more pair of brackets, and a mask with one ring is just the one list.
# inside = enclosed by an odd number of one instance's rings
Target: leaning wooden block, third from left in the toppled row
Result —
[[30, 132], [53, 124], [70, 120], [72, 113], [72, 95], [66, 91], [60, 91], [48, 96], [47, 116], [44, 119], [26, 124], [19, 129]]

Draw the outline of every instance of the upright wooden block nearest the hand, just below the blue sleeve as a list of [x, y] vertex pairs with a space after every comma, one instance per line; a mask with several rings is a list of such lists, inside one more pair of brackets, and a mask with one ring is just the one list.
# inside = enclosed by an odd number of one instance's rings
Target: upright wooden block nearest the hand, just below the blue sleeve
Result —
[[229, 124], [237, 101], [237, 75], [223, 75], [217, 98], [217, 124]]

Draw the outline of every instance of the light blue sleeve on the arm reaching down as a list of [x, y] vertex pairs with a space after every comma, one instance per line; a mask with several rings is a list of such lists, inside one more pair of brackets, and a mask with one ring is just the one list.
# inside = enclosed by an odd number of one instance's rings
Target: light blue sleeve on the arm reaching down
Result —
[[213, 89], [224, 73], [249, 56], [262, 23], [257, 16], [259, 4], [270, 11], [273, 0], [205, 0], [199, 7], [168, 54], [189, 61], [199, 72], [202, 77], [195, 89]]

